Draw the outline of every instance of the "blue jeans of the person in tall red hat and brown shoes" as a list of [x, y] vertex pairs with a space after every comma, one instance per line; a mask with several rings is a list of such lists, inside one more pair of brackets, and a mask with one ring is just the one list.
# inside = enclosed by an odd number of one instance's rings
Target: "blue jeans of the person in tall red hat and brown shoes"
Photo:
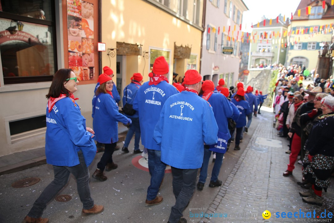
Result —
[[167, 164], [161, 162], [161, 151], [147, 149], [148, 153], [148, 170], [151, 175], [151, 184], [147, 188], [146, 199], [152, 201], [156, 198], [162, 179], [165, 176]]

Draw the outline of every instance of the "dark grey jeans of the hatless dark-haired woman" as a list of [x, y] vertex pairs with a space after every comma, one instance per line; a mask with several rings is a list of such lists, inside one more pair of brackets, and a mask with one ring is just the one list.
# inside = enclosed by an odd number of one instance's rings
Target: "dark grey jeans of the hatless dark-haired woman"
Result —
[[89, 171], [86, 166], [82, 152], [78, 152], [80, 164], [76, 166], [53, 166], [54, 179], [46, 186], [41, 195], [33, 204], [28, 216], [31, 218], [39, 218], [42, 216], [46, 204], [51, 201], [54, 196], [67, 184], [69, 174], [73, 174], [76, 180], [77, 190], [80, 201], [84, 209], [91, 209], [94, 206], [94, 200], [91, 198], [89, 188]]

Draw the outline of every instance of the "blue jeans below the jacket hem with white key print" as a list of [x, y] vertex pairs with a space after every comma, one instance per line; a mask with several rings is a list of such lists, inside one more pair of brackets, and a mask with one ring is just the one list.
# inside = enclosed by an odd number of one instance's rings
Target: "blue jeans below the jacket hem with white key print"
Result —
[[[210, 156], [211, 156], [211, 151], [209, 150], [209, 148], [205, 148], [204, 146], [203, 164], [201, 167], [199, 180], [198, 180], [198, 182], [201, 182], [203, 184], [205, 184], [205, 181], [206, 181]], [[221, 164], [223, 162], [223, 157], [224, 157], [224, 153], [216, 152], [216, 160], [214, 161], [210, 181], [216, 182], [218, 180], [218, 175], [219, 175]]]

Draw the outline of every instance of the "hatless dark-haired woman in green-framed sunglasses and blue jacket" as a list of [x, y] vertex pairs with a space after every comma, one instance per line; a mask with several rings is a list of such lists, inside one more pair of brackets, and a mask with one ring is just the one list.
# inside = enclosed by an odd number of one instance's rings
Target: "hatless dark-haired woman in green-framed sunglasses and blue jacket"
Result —
[[92, 163], [96, 146], [94, 131], [86, 127], [73, 93], [79, 82], [71, 69], [58, 70], [46, 95], [46, 162], [53, 165], [54, 180], [44, 189], [33, 204], [23, 223], [47, 223], [41, 218], [46, 204], [67, 184], [69, 174], [76, 179], [82, 214], [97, 214], [104, 210], [95, 205], [89, 188], [88, 166]]

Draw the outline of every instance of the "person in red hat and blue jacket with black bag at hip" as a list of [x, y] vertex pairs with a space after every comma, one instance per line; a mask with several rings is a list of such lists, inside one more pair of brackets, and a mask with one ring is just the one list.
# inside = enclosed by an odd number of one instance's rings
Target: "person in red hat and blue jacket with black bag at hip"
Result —
[[[133, 104], [133, 101], [138, 92], [138, 89], [140, 88], [140, 86], [142, 86], [142, 83], [143, 83], [143, 76], [140, 73], [133, 74], [133, 76], [130, 79], [131, 79], [131, 83], [128, 86], [126, 86], [123, 91], [123, 108], [126, 103], [130, 105]], [[135, 149], [133, 153], [142, 153], [143, 150], [139, 149], [140, 125], [139, 125], [138, 111], [136, 111], [136, 113], [133, 115], [128, 115], [126, 114], [126, 111], [124, 111], [124, 115], [131, 119], [132, 124], [128, 131], [128, 134], [126, 135], [122, 151], [125, 153], [129, 152], [128, 146], [129, 146], [130, 140], [132, 139], [133, 134], [135, 134]]]

